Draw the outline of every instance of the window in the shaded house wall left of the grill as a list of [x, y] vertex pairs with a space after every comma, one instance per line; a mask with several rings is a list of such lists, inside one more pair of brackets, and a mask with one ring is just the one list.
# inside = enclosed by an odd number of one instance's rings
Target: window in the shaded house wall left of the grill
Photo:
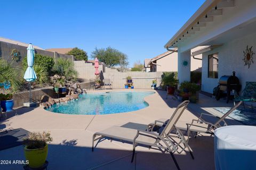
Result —
[[218, 79], [218, 64], [218, 53], [208, 56], [208, 78]]

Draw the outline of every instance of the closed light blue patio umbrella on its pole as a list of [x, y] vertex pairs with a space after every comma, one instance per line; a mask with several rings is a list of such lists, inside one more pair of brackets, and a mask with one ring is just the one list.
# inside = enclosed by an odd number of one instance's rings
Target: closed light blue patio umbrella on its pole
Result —
[[25, 72], [24, 79], [29, 82], [29, 91], [30, 91], [29, 103], [31, 103], [31, 82], [35, 81], [36, 78], [37, 78], [35, 70], [33, 68], [35, 50], [34, 50], [34, 47], [32, 46], [32, 44], [28, 45], [27, 50], [28, 50], [27, 51], [28, 68], [27, 68], [27, 70]]

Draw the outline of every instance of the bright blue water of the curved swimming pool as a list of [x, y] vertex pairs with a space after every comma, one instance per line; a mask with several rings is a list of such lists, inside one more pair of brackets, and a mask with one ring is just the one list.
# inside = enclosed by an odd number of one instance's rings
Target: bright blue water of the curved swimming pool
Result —
[[154, 92], [107, 92], [79, 95], [78, 100], [53, 105], [47, 111], [63, 114], [113, 114], [137, 111], [148, 104], [144, 101], [146, 96]]

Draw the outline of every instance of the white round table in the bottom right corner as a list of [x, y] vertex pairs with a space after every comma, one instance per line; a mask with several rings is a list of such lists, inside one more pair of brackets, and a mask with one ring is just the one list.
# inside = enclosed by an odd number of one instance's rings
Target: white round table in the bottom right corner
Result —
[[223, 126], [214, 132], [215, 169], [256, 169], [256, 126]]

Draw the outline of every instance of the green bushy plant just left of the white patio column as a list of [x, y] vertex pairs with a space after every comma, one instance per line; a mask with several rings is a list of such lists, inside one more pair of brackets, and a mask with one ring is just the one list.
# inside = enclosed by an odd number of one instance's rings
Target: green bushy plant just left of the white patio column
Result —
[[165, 88], [167, 85], [169, 86], [177, 86], [178, 80], [178, 72], [163, 72], [162, 74], [162, 86]]

